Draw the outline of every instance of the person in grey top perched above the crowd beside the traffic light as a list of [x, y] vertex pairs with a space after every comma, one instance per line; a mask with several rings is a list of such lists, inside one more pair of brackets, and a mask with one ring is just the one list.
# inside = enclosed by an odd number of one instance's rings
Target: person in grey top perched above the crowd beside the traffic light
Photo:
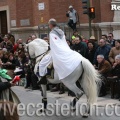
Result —
[[77, 11], [73, 8], [73, 6], [69, 6], [69, 11], [66, 13], [66, 16], [69, 17], [68, 26], [74, 30], [76, 30], [76, 24], [78, 21]]

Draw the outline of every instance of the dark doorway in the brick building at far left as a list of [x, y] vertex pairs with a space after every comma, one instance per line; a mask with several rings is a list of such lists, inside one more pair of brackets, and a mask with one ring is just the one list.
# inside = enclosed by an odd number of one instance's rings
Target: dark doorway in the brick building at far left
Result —
[[0, 33], [2, 35], [7, 34], [8, 32], [8, 27], [7, 27], [7, 12], [5, 11], [0, 11]]

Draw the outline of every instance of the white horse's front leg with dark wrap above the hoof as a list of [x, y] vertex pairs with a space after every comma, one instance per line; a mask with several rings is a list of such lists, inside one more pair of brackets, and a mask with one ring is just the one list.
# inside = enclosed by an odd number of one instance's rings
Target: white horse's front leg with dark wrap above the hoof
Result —
[[41, 85], [42, 88], [42, 103], [43, 103], [43, 110], [41, 112], [45, 112], [47, 109], [47, 86], [46, 85]]

